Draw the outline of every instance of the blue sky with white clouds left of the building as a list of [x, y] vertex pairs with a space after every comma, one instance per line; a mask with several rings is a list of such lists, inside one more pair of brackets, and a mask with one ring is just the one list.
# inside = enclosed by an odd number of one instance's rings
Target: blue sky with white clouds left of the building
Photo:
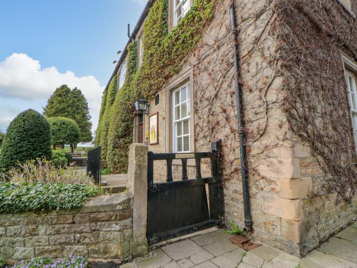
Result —
[[146, 0], [0, 2], [0, 130], [19, 112], [42, 112], [63, 83], [80, 88], [96, 128], [100, 97]]

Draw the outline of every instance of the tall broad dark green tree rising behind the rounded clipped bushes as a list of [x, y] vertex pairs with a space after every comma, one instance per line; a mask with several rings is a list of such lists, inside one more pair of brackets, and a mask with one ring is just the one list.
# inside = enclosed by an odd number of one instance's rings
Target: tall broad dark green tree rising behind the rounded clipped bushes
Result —
[[[77, 87], [70, 89], [67, 85], [58, 87], [49, 97], [43, 109], [46, 117], [68, 117], [78, 124], [81, 137], [78, 142], [92, 141], [92, 123], [90, 121], [88, 102]], [[74, 147], [77, 144], [74, 145]]]

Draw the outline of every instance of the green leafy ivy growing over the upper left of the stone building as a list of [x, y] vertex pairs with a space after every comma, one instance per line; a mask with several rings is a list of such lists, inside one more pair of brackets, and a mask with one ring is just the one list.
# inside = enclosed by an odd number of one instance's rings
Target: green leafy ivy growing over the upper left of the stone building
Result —
[[170, 32], [168, 0], [157, 0], [151, 7], [143, 27], [142, 64], [137, 69], [137, 42], [133, 41], [127, 47], [123, 86], [115, 95], [113, 88], [117, 77], [114, 77], [102, 97], [94, 144], [102, 146], [103, 158], [112, 173], [127, 172], [129, 145], [133, 141], [135, 101], [154, 98], [166, 81], [181, 70], [187, 54], [200, 39], [202, 28], [214, 15], [215, 2], [196, 0], [179, 25]]

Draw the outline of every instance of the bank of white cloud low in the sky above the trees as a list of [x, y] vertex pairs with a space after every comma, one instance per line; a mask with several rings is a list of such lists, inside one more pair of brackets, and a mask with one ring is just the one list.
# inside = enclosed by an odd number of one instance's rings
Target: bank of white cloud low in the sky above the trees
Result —
[[104, 87], [94, 76], [77, 77], [69, 70], [61, 74], [56, 67], [41, 69], [40, 62], [26, 54], [14, 53], [0, 62], [0, 97], [27, 102], [48, 99], [63, 84], [82, 91], [90, 108], [93, 130], [96, 129]]

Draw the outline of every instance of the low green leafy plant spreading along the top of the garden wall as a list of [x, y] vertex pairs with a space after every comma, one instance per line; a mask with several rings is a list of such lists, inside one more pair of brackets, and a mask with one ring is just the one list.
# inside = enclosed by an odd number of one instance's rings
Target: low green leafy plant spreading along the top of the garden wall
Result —
[[84, 184], [0, 182], [0, 213], [80, 208], [100, 193]]

